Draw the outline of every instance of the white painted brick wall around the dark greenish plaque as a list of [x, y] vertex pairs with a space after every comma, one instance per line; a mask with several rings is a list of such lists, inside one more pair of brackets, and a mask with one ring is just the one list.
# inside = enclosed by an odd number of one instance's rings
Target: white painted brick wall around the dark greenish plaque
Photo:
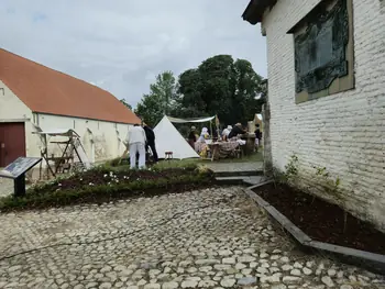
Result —
[[320, 0], [283, 0], [266, 13], [273, 164], [299, 158], [302, 184], [315, 169], [341, 179], [348, 210], [385, 230], [385, 12], [380, 0], [353, 0], [355, 89], [295, 104], [294, 40], [286, 32]]

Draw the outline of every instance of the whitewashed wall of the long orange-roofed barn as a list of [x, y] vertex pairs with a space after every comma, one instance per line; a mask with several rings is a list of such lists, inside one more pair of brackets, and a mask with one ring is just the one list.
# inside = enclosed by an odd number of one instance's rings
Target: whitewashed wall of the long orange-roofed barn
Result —
[[[3, 90], [1, 88], [3, 88]], [[22, 120], [25, 121], [26, 156], [32, 157], [41, 155], [41, 140], [37, 135], [32, 134], [32, 132], [36, 132], [35, 125], [42, 127], [43, 131], [55, 129], [75, 130], [80, 135], [87, 156], [91, 162], [98, 163], [121, 156], [125, 148], [119, 138], [124, 141], [129, 127], [128, 124], [32, 113], [16, 96], [0, 81], [0, 121], [12, 122]], [[94, 141], [94, 145], [91, 141]], [[52, 144], [50, 148], [54, 149], [53, 152], [56, 154], [59, 152], [57, 145]]]

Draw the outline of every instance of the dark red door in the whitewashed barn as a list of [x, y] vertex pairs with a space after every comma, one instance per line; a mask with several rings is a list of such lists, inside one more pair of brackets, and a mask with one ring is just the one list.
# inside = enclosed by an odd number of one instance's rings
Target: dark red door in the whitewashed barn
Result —
[[0, 167], [25, 156], [25, 127], [23, 122], [0, 123]]

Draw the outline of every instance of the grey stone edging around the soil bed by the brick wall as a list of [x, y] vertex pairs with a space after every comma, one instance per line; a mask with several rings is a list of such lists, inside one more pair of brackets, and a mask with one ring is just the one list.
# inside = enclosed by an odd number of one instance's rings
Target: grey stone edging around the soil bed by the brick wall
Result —
[[305, 234], [299, 227], [297, 227], [289, 219], [283, 215], [273, 205], [266, 202], [257, 193], [252, 191], [255, 188], [274, 182], [273, 180], [267, 180], [258, 185], [249, 187], [244, 189], [244, 192], [255, 201], [261, 208], [266, 210], [268, 214], [278, 222], [297, 242], [302, 246], [309, 247], [315, 251], [320, 251], [326, 254], [331, 254], [344, 263], [364, 267], [365, 269], [376, 271], [378, 274], [385, 275], [385, 255], [370, 253], [366, 251], [354, 249], [350, 247], [333, 245], [330, 243], [318, 242]]

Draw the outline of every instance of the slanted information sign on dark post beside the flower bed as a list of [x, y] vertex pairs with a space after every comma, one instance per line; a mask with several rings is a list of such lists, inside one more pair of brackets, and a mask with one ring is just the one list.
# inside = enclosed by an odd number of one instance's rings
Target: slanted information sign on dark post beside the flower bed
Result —
[[25, 196], [25, 173], [42, 162], [41, 157], [19, 157], [0, 170], [0, 177], [13, 179], [14, 197]]

